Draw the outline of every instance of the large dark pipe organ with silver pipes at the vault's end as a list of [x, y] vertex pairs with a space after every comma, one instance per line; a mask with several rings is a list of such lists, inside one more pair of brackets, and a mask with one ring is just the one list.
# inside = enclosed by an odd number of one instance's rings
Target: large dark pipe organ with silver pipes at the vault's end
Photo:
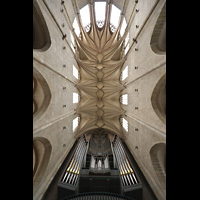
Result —
[[58, 200], [89, 192], [142, 200], [142, 183], [119, 136], [103, 129], [93, 131], [89, 139], [83, 134], [70, 155], [58, 182]]

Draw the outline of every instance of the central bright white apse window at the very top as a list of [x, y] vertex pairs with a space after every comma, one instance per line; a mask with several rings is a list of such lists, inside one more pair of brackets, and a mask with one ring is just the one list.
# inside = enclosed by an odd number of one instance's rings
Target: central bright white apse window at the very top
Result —
[[97, 26], [102, 28], [106, 16], [106, 2], [95, 2], [94, 8]]

